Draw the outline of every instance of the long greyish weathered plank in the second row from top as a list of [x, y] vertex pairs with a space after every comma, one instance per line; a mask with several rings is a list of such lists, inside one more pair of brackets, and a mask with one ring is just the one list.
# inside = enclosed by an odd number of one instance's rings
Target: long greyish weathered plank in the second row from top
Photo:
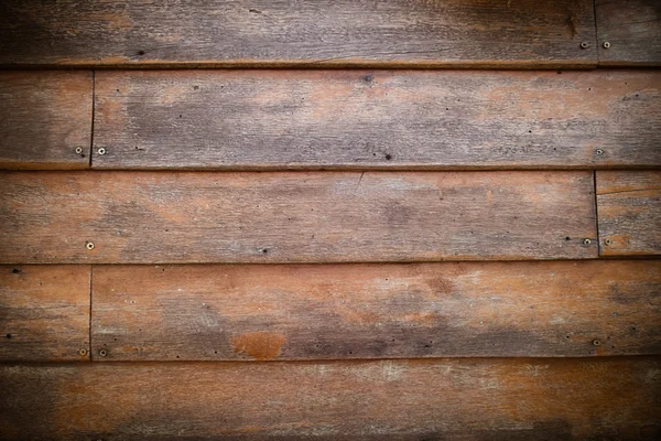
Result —
[[99, 72], [95, 90], [95, 168], [661, 166], [659, 72]]

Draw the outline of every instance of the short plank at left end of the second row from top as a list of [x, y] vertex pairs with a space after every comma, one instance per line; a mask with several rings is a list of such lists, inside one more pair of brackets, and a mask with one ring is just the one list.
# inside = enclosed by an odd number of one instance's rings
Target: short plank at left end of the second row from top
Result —
[[88, 168], [91, 88], [91, 72], [0, 72], [0, 169]]

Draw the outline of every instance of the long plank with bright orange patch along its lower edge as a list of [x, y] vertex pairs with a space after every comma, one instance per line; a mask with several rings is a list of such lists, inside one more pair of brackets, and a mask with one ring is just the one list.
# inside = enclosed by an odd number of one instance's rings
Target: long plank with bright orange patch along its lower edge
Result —
[[661, 354], [661, 261], [95, 266], [94, 281], [102, 361]]

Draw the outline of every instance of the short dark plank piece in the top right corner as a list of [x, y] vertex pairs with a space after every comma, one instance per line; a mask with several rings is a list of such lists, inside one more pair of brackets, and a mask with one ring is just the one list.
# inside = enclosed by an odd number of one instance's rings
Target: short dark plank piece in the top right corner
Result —
[[599, 64], [661, 66], [661, 1], [595, 0], [595, 12]]

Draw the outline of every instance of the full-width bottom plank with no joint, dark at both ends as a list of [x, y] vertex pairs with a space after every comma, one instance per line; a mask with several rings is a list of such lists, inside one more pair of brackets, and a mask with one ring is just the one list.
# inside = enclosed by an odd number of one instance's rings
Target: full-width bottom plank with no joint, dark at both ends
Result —
[[652, 440], [660, 369], [644, 356], [6, 365], [0, 435]]

